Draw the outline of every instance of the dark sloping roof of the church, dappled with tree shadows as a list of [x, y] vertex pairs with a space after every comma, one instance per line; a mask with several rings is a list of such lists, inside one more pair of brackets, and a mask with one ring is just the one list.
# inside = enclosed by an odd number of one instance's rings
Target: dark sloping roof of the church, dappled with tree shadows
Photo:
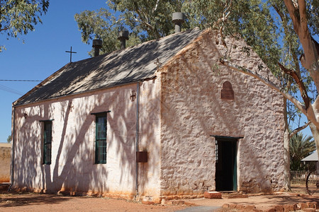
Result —
[[157, 59], [163, 66], [177, 52], [196, 39], [200, 33], [201, 30], [195, 28], [111, 54], [102, 54], [98, 57], [66, 64], [18, 99], [15, 105], [152, 78], [157, 71], [157, 65], [154, 64]]

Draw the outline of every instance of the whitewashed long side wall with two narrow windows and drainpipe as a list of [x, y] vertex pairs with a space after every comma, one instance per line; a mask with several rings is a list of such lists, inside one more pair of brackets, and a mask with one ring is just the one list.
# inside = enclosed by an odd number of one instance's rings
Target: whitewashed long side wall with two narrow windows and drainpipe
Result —
[[[141, 83], [140, 107], [154, 105], [155, 81]], [[16, 107], [16, 139], [13, 186], [39, 192], [86, 192], [133, 198], [135, 195], [136, 103], [132, 102], [136, 83], [107, 90], [72, 95]], [[107, 114], [106, 164], [94, 164], [95, 116]], [[158, 109], [156, 109], [158, 110]], [[154, 111], [152, 111], [154, 112]], [[156, 112], [156, 111], [155, 111]], [[23, 114], [28, 117], [23, 117]], [[159, 196], [159, 116], [140, 118], [140, 148], [147, 148], [152, 158], [140, 165], [140, 188], [147, 195]], [[43, 123], [52, 121], [52, 164], [43, 165]], [[157, 123], [156, 123], [157, 122]], [[151, 123], [151, 124], [150, 124]], [[153, 157], [155, 156], [155, 157]]]

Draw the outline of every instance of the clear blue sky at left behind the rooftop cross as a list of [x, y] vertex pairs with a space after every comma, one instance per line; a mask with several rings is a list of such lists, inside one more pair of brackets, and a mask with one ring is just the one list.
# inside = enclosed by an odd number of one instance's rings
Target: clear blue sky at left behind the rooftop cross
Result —
[[[89, 57], [91, 45], [81, 40], [81, 33], [74, 20], [74, 14], [84, 10], [106, 8], [106, 0], [54, 0], [45, 16], [43, 24], [35, 25], [35, 31], [21, 36], [22, 39], [0, 35], [0, 45], [6, 50], [0, 53], [0, 79], [44, 80], [47, 76], [69, 62], [69, 51], [72, 61]], [[12, 102], [21, 97], [18, 93], [27, 93], [40, 82], [8, 82], [0, 81], [0, 142], [6, 142], [11, 134]], [[13, 90], [12, 90], [13, 89]], [[13, 93], [6, 90], [11, 90]]]

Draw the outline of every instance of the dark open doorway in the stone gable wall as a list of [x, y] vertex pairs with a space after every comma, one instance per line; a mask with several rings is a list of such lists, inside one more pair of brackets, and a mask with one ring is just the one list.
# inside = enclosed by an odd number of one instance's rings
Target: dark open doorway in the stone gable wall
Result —
[[237, 138], [216, 136], [216, 191], [237, 191]]

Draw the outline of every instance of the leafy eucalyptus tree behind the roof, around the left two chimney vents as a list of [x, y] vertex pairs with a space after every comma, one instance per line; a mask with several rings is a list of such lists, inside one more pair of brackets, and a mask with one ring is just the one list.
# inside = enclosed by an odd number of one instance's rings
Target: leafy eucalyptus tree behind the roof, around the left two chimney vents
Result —
[[[75, 14], [82, 41], [102, 39], [103, 53], [120, 49], [118, 30], [130, 31], [128, 46], [172, 34], [172, 13], [181, 10], [182, 1], [107, 1], [109, 9]], [[189, 28], [186, 26], [186, 28]], [[91, 54], [91, 53], [90, 53]]]

